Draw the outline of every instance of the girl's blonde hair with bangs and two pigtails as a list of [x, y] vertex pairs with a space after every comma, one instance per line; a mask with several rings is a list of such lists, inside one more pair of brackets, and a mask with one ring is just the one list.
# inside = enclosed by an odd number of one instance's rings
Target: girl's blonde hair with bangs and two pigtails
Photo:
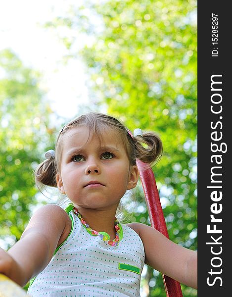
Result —
[[73, 127], [81, 126], [89, 128], [89, 137], [94, 133], [100, 140], [107, 129], [118, 133], [126, 150], [130, 167], [136, 165], [136, 159], [151, 164], [158, 161], [162, 155], [162, 142], [154, 132], [146, 131], [142, 133], [142, 137], [132, 138], [128, 129], [118, 119], [98, 112], [89, 112], [75, 118], [62, 128], [56, 141], [55, 155], [36, 168], [35, 181], [40, 190], [45, 186], [57, 187], [56, 174], [60, 172], [63, 136]]

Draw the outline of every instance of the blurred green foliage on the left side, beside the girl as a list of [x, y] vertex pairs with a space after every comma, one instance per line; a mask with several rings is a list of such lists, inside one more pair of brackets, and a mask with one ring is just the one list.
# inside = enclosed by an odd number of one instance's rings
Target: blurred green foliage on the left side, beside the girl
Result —
[[39, 74], [7, 49], [0, 52], [0, 72], [0, 239], [7, 248], [20, 239], [38, 203], [33, 169], [53, 136]]

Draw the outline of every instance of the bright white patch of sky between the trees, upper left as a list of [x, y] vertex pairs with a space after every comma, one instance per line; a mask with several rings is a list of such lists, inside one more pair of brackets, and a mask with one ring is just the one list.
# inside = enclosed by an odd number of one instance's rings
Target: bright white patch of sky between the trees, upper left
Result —
[[[82, 4], [84, 0], [78, 0]], [[81, 60], [62, 63], [67, 49], [54, 30], [41, 24], [62, 15], [76, 0], [0, 1], [0, 50], [12, 49], [24, 65], [42, 73], [41, 88], [47, 92], [52, 110], [72, 118], [88, 102], [87, 75]]]

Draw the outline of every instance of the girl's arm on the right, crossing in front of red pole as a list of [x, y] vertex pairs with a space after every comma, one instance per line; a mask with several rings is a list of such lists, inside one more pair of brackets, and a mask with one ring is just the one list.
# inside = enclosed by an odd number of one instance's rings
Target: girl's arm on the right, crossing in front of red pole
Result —
[[179, 246], [156, 229], [141, 223], [128, 224], [140, 236], [145, 263], [186, 286], [197, 289], [197, 252]]

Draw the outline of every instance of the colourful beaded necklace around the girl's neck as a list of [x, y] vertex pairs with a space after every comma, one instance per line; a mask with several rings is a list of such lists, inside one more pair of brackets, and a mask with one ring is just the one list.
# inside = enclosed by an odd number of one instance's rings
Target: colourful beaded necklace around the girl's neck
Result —
[[97, 232], [96, 230], [92, 229], [87, 222], [83, 219], [82, 215], [80, 214], [80, 212], [78, 211], [78, 209], [76, 207], [73, 208], [73, 212], [78, 216], [78, 218], [80, 219], [81, 223], [85, 226], [86, 230], [91, 233], [92, 235], [98, 235], [103, 241], [108, 241], [108, 244], [112, 247], [116, 247], [118, 246], [118, 242], [119, 242], [119, 231], [120, 231], [120, 227], [119, 227], [119, 221], [117, 220], [117, 218], [115, 217], [114, 219], [114, 228], [116, 231], [116, 236], [114, 240], [110, 240], [110, 236], [108, 233], [106, 232]]

